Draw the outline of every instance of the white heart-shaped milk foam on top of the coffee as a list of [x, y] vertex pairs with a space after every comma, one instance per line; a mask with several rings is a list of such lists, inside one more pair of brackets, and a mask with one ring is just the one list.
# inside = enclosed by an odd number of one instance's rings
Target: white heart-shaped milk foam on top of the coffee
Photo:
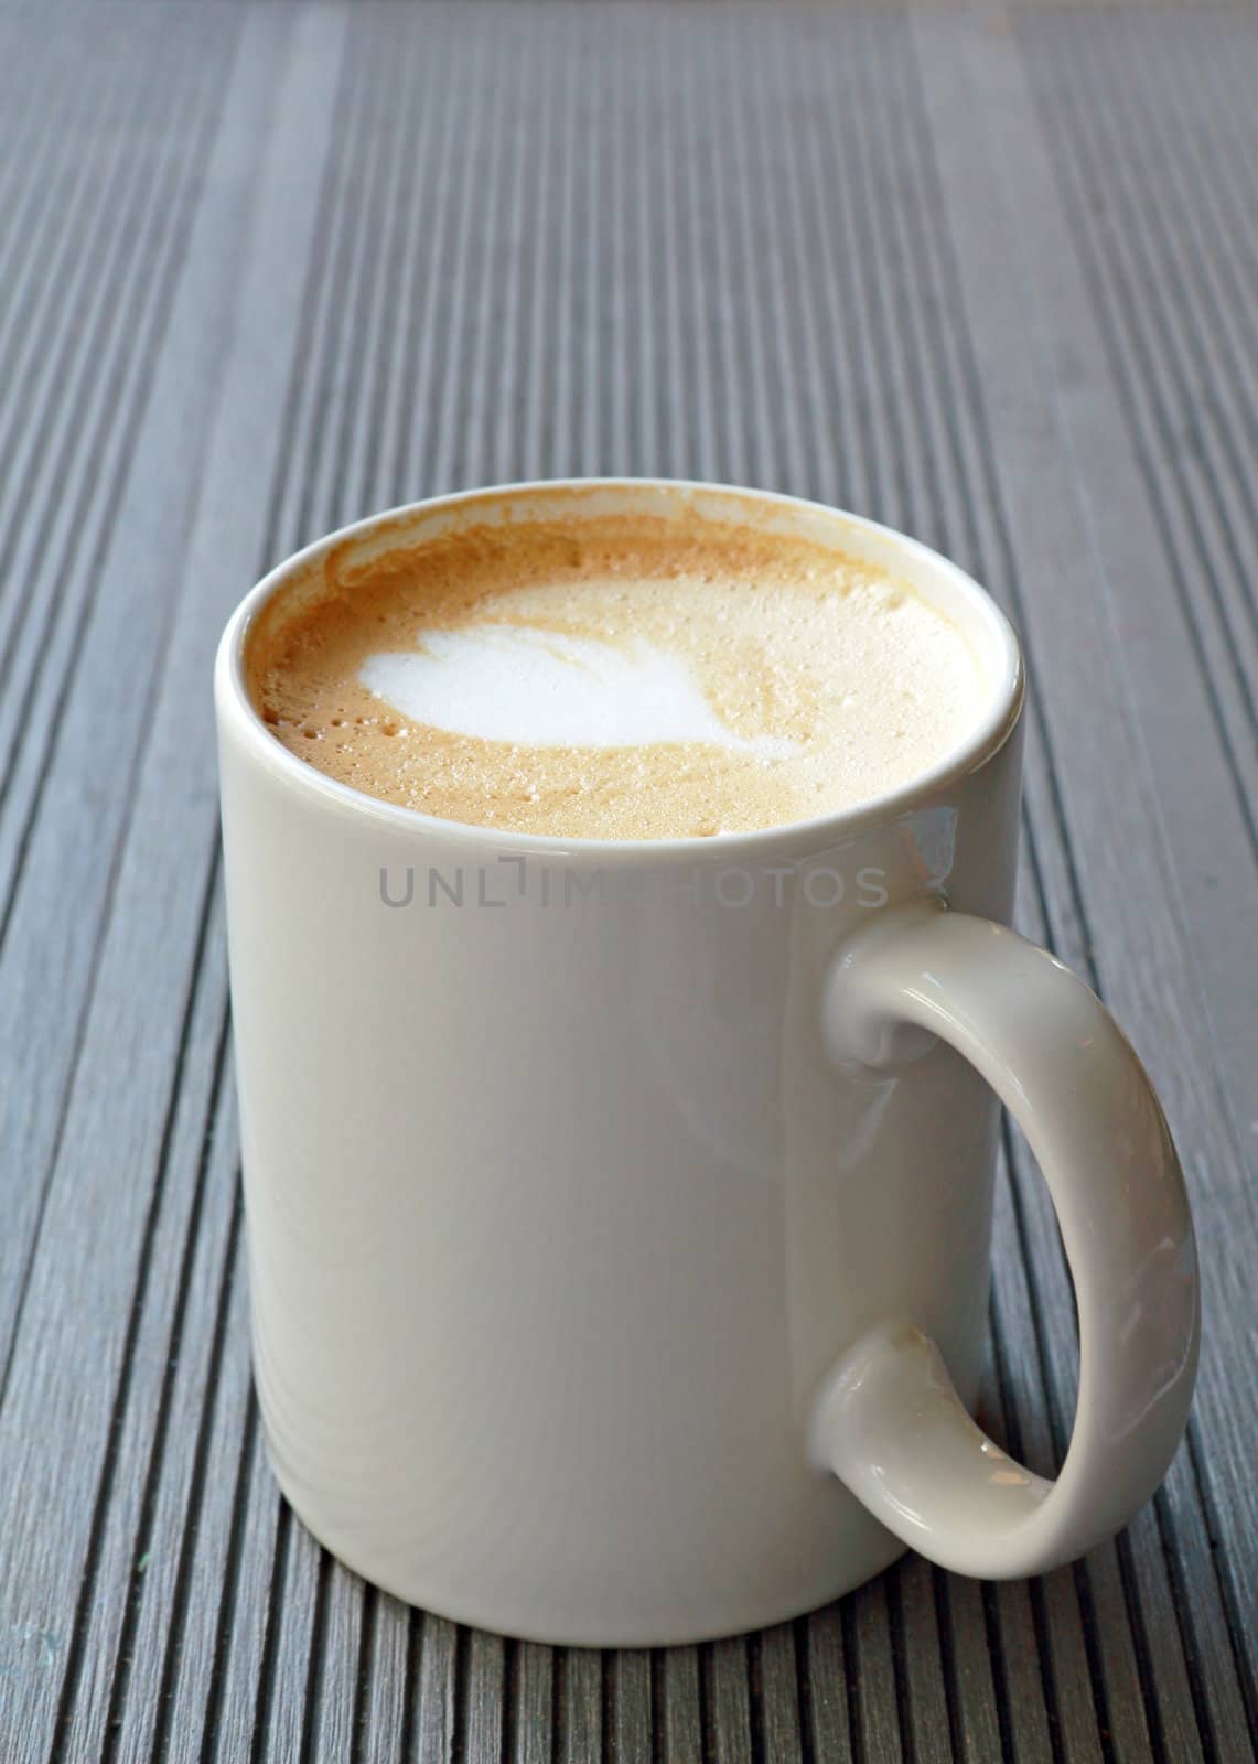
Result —
[[702, 741], [780, 759], [794, 741], [736, 736], [679, 656], [640, 637], [605, 644], [520, 624], [427, 632], [372, 656], [362, 683], [402, 716], [452, 734], [535, 748]]

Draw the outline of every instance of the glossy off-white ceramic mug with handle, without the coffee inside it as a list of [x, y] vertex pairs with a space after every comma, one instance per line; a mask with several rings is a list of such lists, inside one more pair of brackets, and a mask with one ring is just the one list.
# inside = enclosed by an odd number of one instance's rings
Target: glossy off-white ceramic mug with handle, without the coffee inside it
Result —
[[[427, 818], [266, 732], [242, 644], [295, 572], [577, 503], [909, 579], [993, 679], [963, 751], [847, 813], [640, 843]], [[273, 570], [215, 690], [256, 1381], [328, 1549], [466, 1623], [663, 1644], [812, 1609], [905, 1545], [1036, 1573], [1152, 1494], [1196, 1369], [1182, 1177], [1113, 1020], [1007, 930], [1022, 660], [955, 564], [748, 490], [445, 497]], [[1057, 1482], [967, 1413], [997, 1097], [1078, 1295]]]

